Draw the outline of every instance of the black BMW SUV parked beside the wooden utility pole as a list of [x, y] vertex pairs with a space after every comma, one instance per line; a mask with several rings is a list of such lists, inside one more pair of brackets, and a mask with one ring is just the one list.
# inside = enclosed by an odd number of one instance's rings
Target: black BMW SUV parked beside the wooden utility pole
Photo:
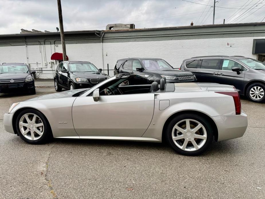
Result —
[[54, 74], [56, 91], [64, 89], [90, 88], [107, 79], [95, 65], [87, 61], [63, 61], [57, 66]]

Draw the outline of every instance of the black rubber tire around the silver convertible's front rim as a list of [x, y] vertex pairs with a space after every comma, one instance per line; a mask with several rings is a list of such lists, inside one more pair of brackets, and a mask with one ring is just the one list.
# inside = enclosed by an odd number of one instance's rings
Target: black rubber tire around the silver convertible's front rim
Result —
[[[26, 138], [25, 136], [23, 136], [23, 134], [20, 131], [19, 120], [21, 119], [21, 117], [23, 117], [24, 114], [27, 114], [27, 113], [36, 114], [40, 118], [40, 120], [42, 121], [44, 129], [43, 129], [42, 135], [36, 140], [30, 140], [30, 139]], [[30, 118], [30, 116], [29, 116], [29, 118]], [[49, 140], [52, 139], [52, 131], [51, 131], [50, 125], [49, 125], [46, 117], [40, 111], [37, 111], [35, 109], [23, 110], [23, 111], [21, 111], [18, 114], [15, 122], [16, 122], [15, 126], [16, 126], [16, 130], [17, 130], [17, 134], [27, 143], [30, 143], [30, 144], [43, 144], [43, 143], [46, 143], [46, 142], [48, 142]], [[24, 127], [24, 129], [25, 128], [28, 128], [28, 127]], [[38, 128], [40, 128], [40, 127], [38, 127]], [[34, 133], [34, 134], [36, 135], [36, 137], [39, 136], [36, 133]], [[31, 135], [31, 132], [28, 132], [27, 136], [30, 136], [30, 135]]]

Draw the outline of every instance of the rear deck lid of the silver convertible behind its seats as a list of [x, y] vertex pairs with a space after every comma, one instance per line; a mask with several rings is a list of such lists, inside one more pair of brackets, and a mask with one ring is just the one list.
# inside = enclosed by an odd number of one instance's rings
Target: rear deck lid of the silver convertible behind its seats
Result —
[[236, 91], [231, 85], [217, 83], [174, 83], [175, 92], [189, 91]]

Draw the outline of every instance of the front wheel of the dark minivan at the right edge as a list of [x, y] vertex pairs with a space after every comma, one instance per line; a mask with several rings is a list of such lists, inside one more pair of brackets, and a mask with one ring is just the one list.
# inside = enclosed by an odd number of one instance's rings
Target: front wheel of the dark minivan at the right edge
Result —
[[265, 102], [265, 85], [253, 83], [247, 89], [247, 97], [252, 102]]

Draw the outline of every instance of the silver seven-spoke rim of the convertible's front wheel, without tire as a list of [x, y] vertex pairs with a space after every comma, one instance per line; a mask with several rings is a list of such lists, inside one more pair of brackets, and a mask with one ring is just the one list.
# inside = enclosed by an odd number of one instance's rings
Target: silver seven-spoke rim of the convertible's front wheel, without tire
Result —
[[36, 114], [26, 113], [19, 120], [19, 130], [28, 140], [38, 140], [44, 132], [44, 124]]

